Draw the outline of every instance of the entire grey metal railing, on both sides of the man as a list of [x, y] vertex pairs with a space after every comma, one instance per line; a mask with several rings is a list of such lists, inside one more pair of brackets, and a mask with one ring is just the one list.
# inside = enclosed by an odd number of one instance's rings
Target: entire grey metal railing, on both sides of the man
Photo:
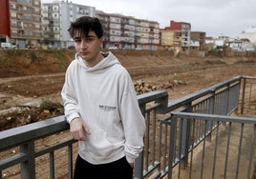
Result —
[[[248, 107], [256, 107], [254, 79], [237, 76], [170, 103], [166, 91], [139, 95], [147, 129], [144, 149], [136, 160], [135, 178], [205, 178], [205, 173], [211, 173], [207, 178], [249, 178], [255, 163], [256, 119], [231, 114], [245, 114]], [[68, 129], [64, 116], [59, 116], [1, 131], [0, 179], [72, 178], [77, 143]], [[53, 135], [59, 139], [49, 144]], [[235, 138], [237, 135], [240, 138]], [[227, 142], [220, 143], [226, 136]], [[237, 152], [236, 162], [230, 151]], [[208, 159], [208, 155], [213, 157]], [[56, 162], [60, 158], [64, 158], [61, 164]], [[212, 161], [210, 166], [206, 165], [208, 161]], [[230, 171], [234, 163], [236, 168]], [[38, 172], [42, 169], [44, 176]]]

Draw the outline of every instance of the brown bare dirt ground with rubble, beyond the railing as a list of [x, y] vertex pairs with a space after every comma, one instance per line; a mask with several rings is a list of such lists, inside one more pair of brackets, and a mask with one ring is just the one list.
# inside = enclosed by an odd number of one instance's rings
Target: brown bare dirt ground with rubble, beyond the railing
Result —
[[[256, 57], [174, 57], [168, 51], [113, 51], [138, 93], [167, 90], [169, 101], [238, 75], [256, 76]], [[13, 54], [14, 53], [14, 54]], [[60, 90], [74, 51], [0, 50], [0, 131], [63, 114]], [[60, 161], [61, 162], [61, 161]]]

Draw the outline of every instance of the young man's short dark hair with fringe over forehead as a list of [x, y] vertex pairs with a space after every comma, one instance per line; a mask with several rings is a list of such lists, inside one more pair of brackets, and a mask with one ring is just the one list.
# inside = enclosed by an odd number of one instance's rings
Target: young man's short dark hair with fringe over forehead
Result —
[[81, 16], [71, 23], [69, 32], [72, 38], [74, 38], [75, 31], [78, 30], [81, 35], [87, 36], [90, 31], [95, 31], [97, 38], [103, 36], [102, 25], [98, 18], [90, 16]]

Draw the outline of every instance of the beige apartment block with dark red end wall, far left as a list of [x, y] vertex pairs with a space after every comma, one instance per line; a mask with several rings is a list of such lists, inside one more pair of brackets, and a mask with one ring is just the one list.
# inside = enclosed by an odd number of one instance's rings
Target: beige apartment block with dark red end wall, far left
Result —
[[40, 0], [0, 0], [0, 39], [19, 49], [41, 45]]

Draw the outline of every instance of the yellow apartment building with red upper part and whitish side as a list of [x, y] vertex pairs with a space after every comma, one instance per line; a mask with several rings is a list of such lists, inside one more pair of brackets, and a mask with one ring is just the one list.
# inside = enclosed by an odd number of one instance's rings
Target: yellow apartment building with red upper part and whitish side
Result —
[[168, 50], [188, 50], [190, 47], [191, 25], [186, 22], [171, 21], [169, 27], [160, 30], [160, 45]]

